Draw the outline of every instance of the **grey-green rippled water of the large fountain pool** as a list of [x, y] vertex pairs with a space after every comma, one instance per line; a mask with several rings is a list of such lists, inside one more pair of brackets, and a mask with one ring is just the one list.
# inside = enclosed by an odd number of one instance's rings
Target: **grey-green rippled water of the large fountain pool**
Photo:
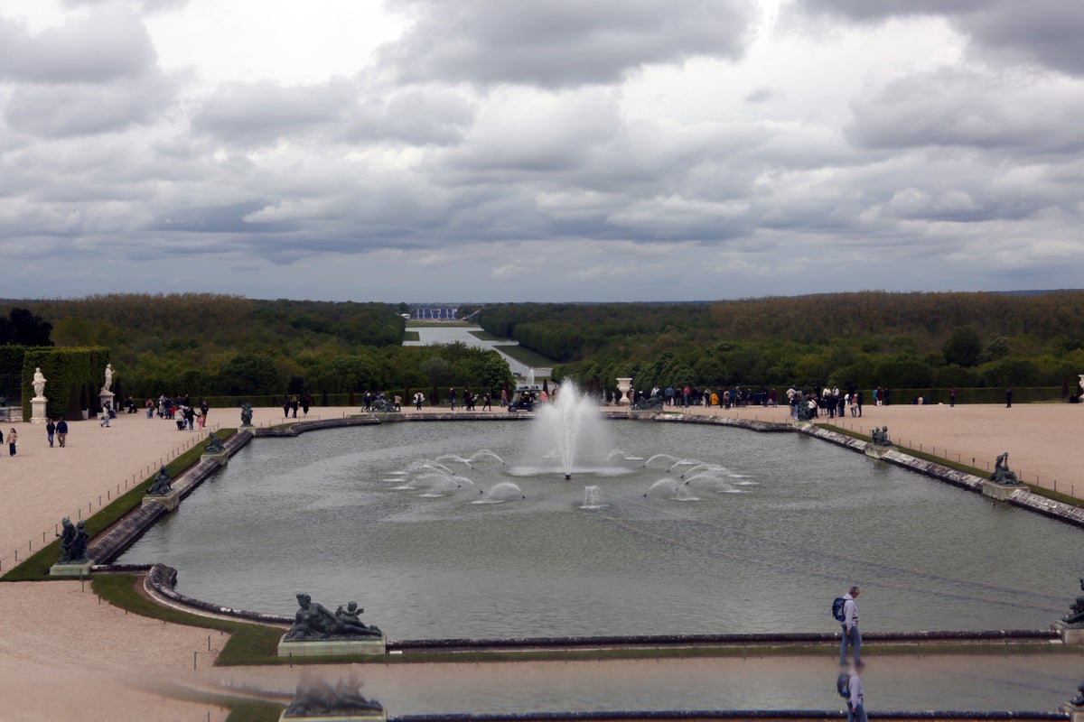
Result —
[[392, 639], [831, 632], [854, 583], [867, 631], [1045, 628], [1077, 591], [1080, 529], [802, 435], [606, 422], [570, 484], [541, 423], [255, 439], [119, 561]]

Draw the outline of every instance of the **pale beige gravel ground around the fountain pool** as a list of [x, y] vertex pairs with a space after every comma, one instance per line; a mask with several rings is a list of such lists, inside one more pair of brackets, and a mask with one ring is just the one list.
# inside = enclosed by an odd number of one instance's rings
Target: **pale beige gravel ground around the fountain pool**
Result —
[[[429, 409], [427, 409], [429, 410]], [[356, 409], [313, 409], [312, 418]], [[405, 409], [410, 413], [412, 409]], [[705, 409], [713, 413], [786, 420], [786, 409]], [[498, 408], [495, 415], [506, 411]], [[235, 426], [237, 409], [212, 409], [211, 425]], [[260, 425], [282, 422], [280, 409], [256, 409]], [[868, 433], [888, 425], [892, 441], [939, 456], [976, 459], [980, 468], [1009, 451], [1010, 467], [1030, 483], [1084, 496], [1081, 434], [1084, 406], [1069, 404], [866, 406], [843, 425]], [[0, 564], [8, 570], [51, 541], [61, 517], [78, 518], [108, 503], [162, 463], [206, 438], [144, 415], [120, 415], [108, 429], [72, 423], [66, 448], [50, 448], [43, 425], [12, 423], [17, 456], [0, 458]], [[144, 691], [159, 679], [198, 679], [210, 664], [208, 633], [164, 625], [100, 604], [78, 581], [0, 585], [0, 719], [3, 720], [222, 720], [217, 707], [166, 699]], [[224, 639], [212, 633], [214, 651]], [[151, 711], [153, 710], [153, 712]]]

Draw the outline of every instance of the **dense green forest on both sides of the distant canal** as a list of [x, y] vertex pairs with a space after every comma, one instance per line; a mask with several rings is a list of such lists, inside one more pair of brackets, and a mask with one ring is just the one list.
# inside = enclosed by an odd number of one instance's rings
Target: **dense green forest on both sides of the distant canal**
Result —
[[[320, 398], [363, 390], [498, 390], [499, 354], [402, 346], [405, 304], [111, 294], [10, 301], [0, 343], [105, 346], [114, 391]], [[863, 291], [696, 303], [487, 305], [478, 320], [555, 359], [554, 377], [670, 384], [872, 389], [1075, 388], [1084, 291]], [[341, 399], [336, 399], [341, 403]]]

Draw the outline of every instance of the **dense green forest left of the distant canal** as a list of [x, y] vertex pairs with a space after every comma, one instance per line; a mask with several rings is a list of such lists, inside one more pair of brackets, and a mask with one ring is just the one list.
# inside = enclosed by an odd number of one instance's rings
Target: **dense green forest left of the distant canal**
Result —
[[[236, 296], [108, 294], [10, 301], [52, 326], [59, 346], [105, 346], [114, 392], [271, 397], [512, 381], [493, 351], [402, 346], [405, 304], [260, 301]], [[0, 324], [0, 330], [3, 325]]]

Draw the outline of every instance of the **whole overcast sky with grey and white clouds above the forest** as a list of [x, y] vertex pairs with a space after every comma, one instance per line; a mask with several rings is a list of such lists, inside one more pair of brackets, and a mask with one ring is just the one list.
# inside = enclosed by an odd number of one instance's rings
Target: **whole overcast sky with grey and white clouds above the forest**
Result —
[[1080, 0], [3, 0], [0, 296], [1084, 286]]

